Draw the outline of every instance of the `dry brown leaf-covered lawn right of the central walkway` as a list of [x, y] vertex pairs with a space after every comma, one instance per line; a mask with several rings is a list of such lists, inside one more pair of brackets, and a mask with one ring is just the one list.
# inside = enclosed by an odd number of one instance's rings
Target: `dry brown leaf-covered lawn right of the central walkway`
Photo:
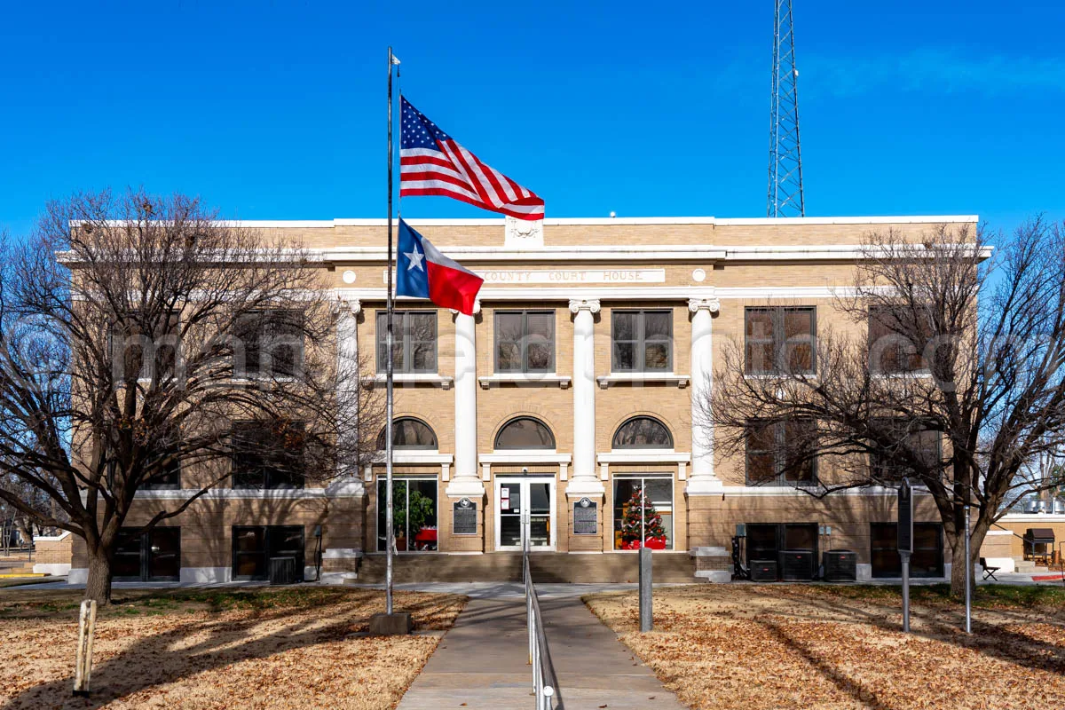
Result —
[[[1035, 588], [1028, 588], [1029, 590]], [[686, 705], [701, 710], [1065, 708], [1065, 594], [981, 588], [967, 635], [944, 589], [704, 584], [585, 601]]]

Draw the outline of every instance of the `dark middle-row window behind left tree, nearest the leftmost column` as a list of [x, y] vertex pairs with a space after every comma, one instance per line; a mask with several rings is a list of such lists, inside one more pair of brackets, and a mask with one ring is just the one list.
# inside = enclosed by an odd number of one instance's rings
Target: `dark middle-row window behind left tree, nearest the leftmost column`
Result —
[[235, 422], [232, 442], [234, 489], [304, 488], [304, 424]]

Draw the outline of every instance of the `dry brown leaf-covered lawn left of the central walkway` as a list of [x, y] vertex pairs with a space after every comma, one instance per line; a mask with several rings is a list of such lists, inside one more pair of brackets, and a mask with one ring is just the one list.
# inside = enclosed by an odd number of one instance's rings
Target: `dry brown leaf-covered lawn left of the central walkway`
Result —
[[92, 694], [71, 697], [76, 593], [0, 594], [0, 706], [114, 710], [394, 708], [465, 598], [397, 592], [415, 634], [367, 637], [383, 592], [116, 592], [97, 621]]

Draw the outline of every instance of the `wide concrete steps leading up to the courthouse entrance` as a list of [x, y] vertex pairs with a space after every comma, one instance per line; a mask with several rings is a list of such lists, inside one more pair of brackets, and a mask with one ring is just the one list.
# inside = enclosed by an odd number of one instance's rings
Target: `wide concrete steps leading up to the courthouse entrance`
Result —
[[[362, 558], [360, 584], [384, 582], [384, 555]], [[639, 581], [639, 558], [629, 552], [574, 555], [534, 552], [529, 558], [532, 578], [539, 583], [584, 582], [620, 583]], [[656, 582], [695, 582], [694, 561], [687, 552], [655, 552]], [[397, 555], [393, 567], [396, 583], [407, 582], [520, 582], [521, 552], [485, 555]]]

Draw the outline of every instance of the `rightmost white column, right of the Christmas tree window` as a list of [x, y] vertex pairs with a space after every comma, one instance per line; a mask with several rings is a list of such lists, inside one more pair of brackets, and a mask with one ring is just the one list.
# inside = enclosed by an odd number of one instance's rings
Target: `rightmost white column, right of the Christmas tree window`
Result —
[[721, 493], [721, 479], [714, 475], [714, 425], [703, 407], [714, 375], [714, 314], [721, 309], [717, 298], [692, 298], [691, 311], [691, 478], [688, 495]]

